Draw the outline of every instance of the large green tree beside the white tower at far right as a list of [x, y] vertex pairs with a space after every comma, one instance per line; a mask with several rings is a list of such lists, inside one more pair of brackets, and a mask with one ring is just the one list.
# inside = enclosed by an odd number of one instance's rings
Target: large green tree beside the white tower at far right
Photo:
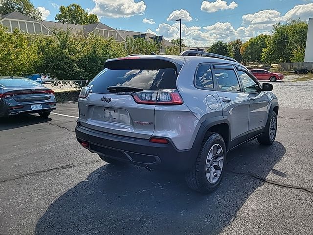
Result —
[[262, 60], [267, 63], [291, 62], [299, 48], [305, 49], [307, 31], [308, 23], [300, 20], [275, 24], [272, 36], [266, 41], [267, 48], [263, 51]]

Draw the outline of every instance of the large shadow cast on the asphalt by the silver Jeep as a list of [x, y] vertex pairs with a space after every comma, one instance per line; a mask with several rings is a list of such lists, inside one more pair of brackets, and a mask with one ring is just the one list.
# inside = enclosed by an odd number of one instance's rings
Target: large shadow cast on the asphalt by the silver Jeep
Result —
[[220, 187], [191, 191], [183, 175], [106, 164], [71, 188], [38, 220], [35, 234], [218, 234], [283, 157], [285, 147], [256, 141], [228, 154]]

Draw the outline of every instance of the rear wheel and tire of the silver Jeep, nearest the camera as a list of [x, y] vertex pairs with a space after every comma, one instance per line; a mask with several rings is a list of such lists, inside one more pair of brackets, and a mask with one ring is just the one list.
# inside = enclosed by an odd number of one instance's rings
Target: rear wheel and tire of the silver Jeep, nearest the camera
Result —
[[214, 191], [223, 177], [225, 163], [226, 145], [223, 137], [210, 132], [202, 142], [195, 164], [185, 175], [187, 185], [203, 194]]

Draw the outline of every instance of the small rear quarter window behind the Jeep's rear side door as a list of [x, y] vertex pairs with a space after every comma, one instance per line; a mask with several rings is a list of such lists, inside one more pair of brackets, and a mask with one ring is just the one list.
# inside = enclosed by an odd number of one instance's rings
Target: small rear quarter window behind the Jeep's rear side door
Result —
[[203, 64], [198, 67], [195, 85], [198, 88], [213, 89], [213, 76], [209, 64]]

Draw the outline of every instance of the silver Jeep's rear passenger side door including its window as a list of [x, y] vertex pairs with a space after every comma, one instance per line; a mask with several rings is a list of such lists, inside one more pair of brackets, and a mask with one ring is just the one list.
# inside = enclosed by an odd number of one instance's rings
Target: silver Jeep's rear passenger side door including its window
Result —
[[242, 91], [232, 65], [214, 64], [213, 72], [223, 117], [230, 127], [230, 147], [232, 147], [246, 140], [250, 100]]

